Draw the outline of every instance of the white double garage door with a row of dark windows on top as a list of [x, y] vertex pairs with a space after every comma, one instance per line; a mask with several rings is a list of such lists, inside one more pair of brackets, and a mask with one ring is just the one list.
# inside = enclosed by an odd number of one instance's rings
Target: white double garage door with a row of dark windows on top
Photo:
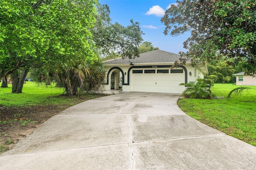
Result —
[[131, 91], [182, 93], [185, 89], [180, 86], [185, 83], [183, 69], [133, 69], [131, 71]]

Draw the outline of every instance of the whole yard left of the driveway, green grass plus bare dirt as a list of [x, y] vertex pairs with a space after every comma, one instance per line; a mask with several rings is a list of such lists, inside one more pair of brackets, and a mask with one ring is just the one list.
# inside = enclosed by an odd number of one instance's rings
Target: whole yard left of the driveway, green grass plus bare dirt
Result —
[[[64, 109], [105, 94], [62, 95], [63, 89], [27, 81], [20, 94], [0, 88], [0, 154]], [[65, 93], [64, 93], [65, 94]]]

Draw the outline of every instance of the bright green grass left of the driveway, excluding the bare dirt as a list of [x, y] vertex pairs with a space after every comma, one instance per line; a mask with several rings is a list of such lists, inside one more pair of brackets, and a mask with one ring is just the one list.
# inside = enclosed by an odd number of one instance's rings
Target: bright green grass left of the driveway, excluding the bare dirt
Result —
[[[76, 105], [78, 97], [60, 97], [64, 93], [63, 88], [54, 86], [38, 85], [35, 82], [26, 81], [23, 85], [22, 93], [12, 92], [12, 85], [8, 88], [0, 88], [0, 105], [4, 106], [30, 106], [30, 105]], [[66, 94], [66, 93], [64, 93]], [[94, 94], [83, 94], [81, 97], [93, 99]]]

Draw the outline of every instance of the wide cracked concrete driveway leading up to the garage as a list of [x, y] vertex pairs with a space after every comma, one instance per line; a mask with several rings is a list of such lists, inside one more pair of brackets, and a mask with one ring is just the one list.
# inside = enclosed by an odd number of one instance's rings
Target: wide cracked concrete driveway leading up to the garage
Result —
[[182, 112], [179, 95], [122, 93], [70, 107], [0, 156], [0, 169], [256, 169], [256, 147]]

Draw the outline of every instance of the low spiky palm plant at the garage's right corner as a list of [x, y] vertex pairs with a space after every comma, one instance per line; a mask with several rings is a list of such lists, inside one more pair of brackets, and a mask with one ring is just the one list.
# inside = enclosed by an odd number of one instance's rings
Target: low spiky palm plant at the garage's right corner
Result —
[[212, 91], [207, 88], [208, 84], [204, 81], [204, 79], [198, 78], [197, 82], [180, 83], [180, 85], [187, 87], [182, 96], [193, 99], [211, 99], [213, 97]]

